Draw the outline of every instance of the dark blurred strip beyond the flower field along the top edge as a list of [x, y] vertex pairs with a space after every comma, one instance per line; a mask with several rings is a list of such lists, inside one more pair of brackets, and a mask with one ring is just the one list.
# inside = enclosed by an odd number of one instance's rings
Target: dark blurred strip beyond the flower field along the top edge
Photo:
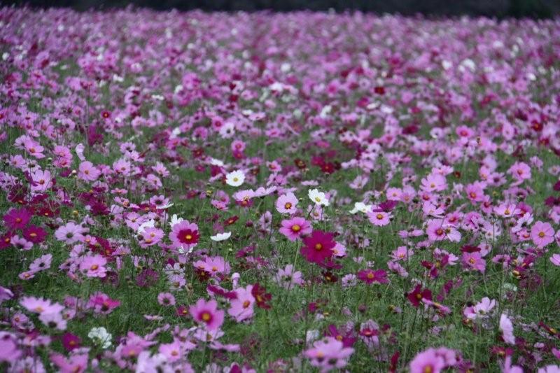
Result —
[[361, 10], [402, 15], [547, 18], [560, 15], [560, 0], [13, 0], [3, 3], [76, 10], [132, 6], [157, 10]]

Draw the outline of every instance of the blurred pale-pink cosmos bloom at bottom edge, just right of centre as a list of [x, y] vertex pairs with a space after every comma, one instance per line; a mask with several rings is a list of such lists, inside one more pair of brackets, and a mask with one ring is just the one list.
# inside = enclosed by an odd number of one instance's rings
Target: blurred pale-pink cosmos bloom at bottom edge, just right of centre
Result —
[[353, 352], [354, 349], [344, 347], [337, 339], [324, 337], [314, 342], [313, 347], [305, 351], [304, 355], [311, 360], [312, 366], [318, 367], [321, 372], [328, 372], [345, 367]]

